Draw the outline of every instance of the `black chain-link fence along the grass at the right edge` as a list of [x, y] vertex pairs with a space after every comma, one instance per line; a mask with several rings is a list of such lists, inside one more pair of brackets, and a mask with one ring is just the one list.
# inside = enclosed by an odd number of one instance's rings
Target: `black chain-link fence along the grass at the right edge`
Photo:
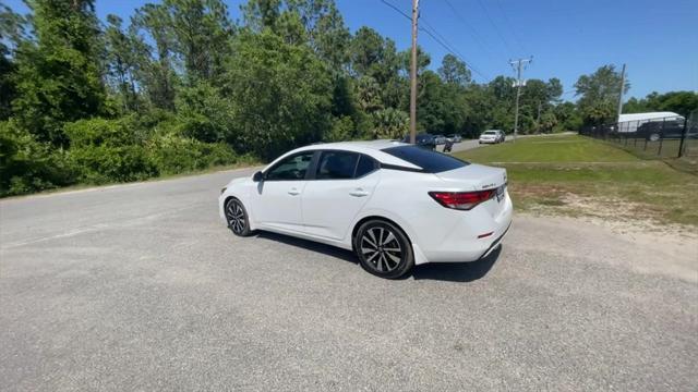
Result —
[[579, 132], [618, 144], [647, 158], [698, 158], [698, 110], [681, 115], [588, 126]]

